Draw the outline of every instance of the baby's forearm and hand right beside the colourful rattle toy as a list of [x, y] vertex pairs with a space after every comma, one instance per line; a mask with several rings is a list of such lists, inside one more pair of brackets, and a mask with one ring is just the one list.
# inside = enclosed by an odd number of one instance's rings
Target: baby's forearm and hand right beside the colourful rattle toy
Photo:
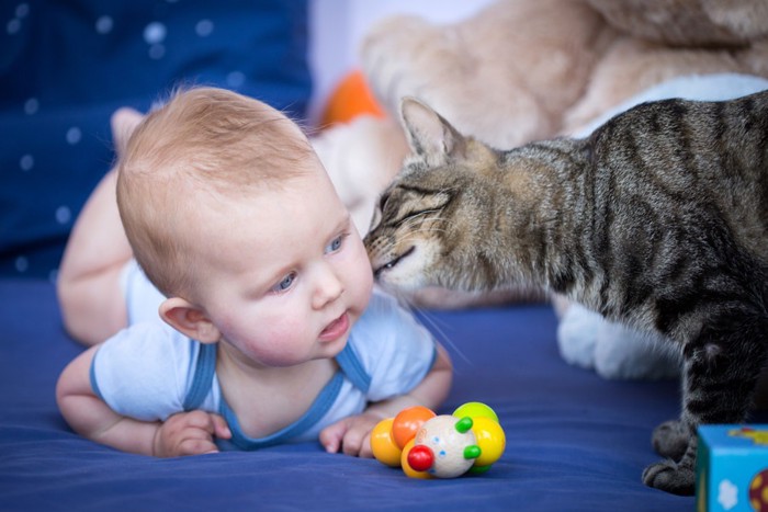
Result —
[[451, 360], [439, 343], [437, 357], [429, 373], [410, 392], [371, 403], [362, 414], [345, 418], [320, 432], [320, 444], [329, 453], [340, 450], [347, 455], [372, 457], [371, 431], [381, 420], [395, 417], [413, 406], [437, 409], [448, 397], [453, 379]]

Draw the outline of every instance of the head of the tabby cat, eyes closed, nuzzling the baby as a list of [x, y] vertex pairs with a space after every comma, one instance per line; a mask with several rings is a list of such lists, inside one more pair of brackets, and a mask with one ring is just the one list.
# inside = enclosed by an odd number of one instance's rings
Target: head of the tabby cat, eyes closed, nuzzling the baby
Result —
[[374, 275], [389, 288], [476, 288], [466, 265], [487, 220], [478, 170], [495, 166], [496, 155], [416, 100], [404, 100], [403, 121], [413, 155], [382, 194], [364, 240]]

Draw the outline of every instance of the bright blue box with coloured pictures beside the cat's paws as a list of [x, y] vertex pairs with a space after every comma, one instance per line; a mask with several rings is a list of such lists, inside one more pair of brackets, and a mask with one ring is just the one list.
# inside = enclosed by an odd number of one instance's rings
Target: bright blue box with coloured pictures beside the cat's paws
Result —
[[768, 424], [699, 426], [696, 503], [699, 512], [768, 511]]

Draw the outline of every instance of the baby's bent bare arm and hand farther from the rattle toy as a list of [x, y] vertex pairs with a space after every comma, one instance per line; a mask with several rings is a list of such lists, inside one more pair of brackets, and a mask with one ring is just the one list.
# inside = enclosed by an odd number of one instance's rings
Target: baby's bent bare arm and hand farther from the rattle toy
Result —
[[92, 346], [61, 373], [56, 400], [77, 433], [123, 452], [158, 457], [217, 452], [214, 437], [229, 439], [224, 418], [205, 411], [180, 412], [165, 422], [138, 421], [117, 414], [91, 388]]

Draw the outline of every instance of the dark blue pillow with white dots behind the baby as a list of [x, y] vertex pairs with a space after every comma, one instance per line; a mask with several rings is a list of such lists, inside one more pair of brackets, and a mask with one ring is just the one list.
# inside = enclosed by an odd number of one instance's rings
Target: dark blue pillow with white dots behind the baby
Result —
[[0, 275], [55, 278], [117, 107], [207, 84], [306, 113], [306, 0], [2, 2], [0, 27]]

